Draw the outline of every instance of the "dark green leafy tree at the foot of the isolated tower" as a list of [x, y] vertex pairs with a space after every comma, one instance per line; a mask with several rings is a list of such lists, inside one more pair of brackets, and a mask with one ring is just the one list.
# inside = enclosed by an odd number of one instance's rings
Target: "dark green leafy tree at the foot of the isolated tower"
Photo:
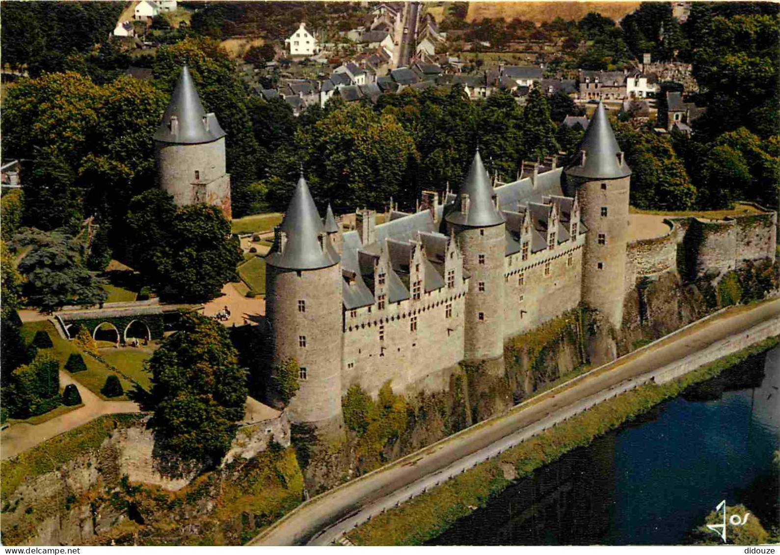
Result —
[[127, 221], [134, 263], [162, 297], [213, 299], [225, 283], [236, 279], [241, 249], [218, 207], [177, 208], [171, 196], [151, 190], [133, 199]]

